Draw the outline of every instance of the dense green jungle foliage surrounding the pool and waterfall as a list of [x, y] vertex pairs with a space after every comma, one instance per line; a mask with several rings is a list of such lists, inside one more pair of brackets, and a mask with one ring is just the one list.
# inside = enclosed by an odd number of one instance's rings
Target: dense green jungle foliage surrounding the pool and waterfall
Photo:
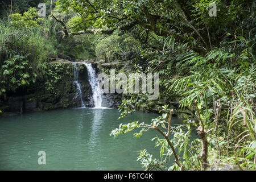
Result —
[[[11, 2], [11, 3], [10, 3]], [[44, 80], [51, 57], [133, 63], [133, 71], [159, 73], [159, 99], [178, 100], [196, 117], [171, 126], [163, 107], [150, 125], [121, 124], [111, 135], [151, 129], [160, 159], [146, 149], [138, 160], [147, 170], [205, 170], [230, 163], [256, 167], [256, 2], [251, 0], [57, 0], [1, 2], [0, 97], [30, 93]], [[211, 3], [214, 3], [213, 6]], [[210, 16], [216, 7], [216, 16]], [[52, 69], [54, 70], [54, 69]], [[147, 94], [129, 94], [119, 107], [131, 114]], [[191, 140], [191, 130], [199, 138]], [[175, 156], [175, 163], [170, 161]], [[181, 157], [179, 157], [181, 156]]]

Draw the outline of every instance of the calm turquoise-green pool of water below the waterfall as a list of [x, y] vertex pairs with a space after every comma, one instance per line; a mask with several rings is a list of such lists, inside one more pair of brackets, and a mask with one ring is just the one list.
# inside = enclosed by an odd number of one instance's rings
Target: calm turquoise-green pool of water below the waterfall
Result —
[[[159, 156], [151, 141], [157, 131], [138, 139], [133, 133], [116, 138], [110, 133], [120, 123], [149, 123], [157, 115], [135, 112], [117, 121], [119, 114], [116, 109], [65, 109], [0, 118], [0, 169], [143, 170], [139, 150]], [[46, 152], [45, 165], [38, 164], [39, 151]]]

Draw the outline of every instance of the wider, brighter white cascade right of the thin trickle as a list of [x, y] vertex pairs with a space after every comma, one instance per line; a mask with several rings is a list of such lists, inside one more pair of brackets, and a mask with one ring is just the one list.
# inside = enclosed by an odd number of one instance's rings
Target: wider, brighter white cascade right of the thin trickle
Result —
[[83, 63], [83, 64], [87, 68], [90, 86], [92, 86], [94, 108], [104, 108], [104, 107], [101, 107], [102, 94], [101, 94], [101, 88], [100, 88], [100, 81], [98, 81], [96, 77], [96, 72], [92, 67], [92, 63]]

